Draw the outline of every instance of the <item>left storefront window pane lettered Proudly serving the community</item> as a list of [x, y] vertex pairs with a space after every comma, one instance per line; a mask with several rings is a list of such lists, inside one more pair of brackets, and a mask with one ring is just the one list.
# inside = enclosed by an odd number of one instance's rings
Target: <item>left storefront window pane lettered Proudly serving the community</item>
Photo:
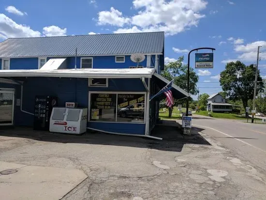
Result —
[[92, 93], [90, 95], [91, 121], [116, 121], [117, 94]]

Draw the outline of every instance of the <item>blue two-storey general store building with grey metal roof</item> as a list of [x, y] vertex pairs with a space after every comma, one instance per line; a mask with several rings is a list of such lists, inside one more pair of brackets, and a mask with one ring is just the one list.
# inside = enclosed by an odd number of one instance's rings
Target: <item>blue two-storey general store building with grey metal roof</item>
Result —
[[[145, 56], [138, 67], [135, 53]], [[149, 97], [169, 82], [163, 66], [164, 32], [9, 38], [0, 43], [0, 125], [32, 126], [35, 96], [50, 95], [88, 108], [88, 129], [150, 135], [164, 97]]]

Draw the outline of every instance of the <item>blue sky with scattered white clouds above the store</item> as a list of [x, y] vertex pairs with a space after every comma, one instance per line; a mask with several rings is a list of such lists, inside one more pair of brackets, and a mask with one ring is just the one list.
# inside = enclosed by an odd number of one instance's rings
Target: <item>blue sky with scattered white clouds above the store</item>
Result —
[[[95, 33], [165, 31], [165, 61], [196, 47], [214, 47], [214, 68], [196, 70], [200, 93], [221, 91], [227, 61], [256, 62], [266, 78], [264, 0], [1, 0], [0, 41]], [[206, 51], [200, 51], [206, 52]], [[194, 63], [194, 53], [191, 56]], [[205, 75], [205, 76], [204, 76]]]

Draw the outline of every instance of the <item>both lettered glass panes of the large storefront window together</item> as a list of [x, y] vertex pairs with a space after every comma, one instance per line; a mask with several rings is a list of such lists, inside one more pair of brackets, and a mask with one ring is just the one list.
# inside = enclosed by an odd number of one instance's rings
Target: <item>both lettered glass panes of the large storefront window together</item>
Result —
[[90, 121], [144, 123], [144, 113], [144, 93], [90, 94]]

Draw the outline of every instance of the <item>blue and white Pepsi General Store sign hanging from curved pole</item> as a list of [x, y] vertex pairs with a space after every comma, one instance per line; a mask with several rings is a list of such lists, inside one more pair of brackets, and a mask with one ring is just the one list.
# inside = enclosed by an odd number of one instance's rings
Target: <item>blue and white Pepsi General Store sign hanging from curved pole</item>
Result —
[[195, 68], [213, 68], [213, 53], [196, 53]]

